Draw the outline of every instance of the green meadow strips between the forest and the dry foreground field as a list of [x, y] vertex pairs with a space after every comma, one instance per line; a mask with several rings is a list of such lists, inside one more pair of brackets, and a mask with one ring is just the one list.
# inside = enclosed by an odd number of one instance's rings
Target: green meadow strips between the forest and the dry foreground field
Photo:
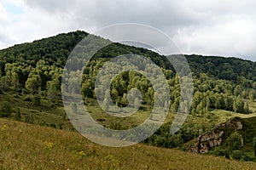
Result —
[[[62, 128], [65, 129], [73, 129], [73, 126], [70, 122], [68, 122], [68, 118], [66, 112], [63, 108], [63, 104], [61, 98], [57, 99], [55, 104], [51, 104], [47, 98], [42, 98], [41, 105], [35, 106], [32, 105], [31, 101], [26, 101], [26, 98], [32, 98], [29, 94], [18, 94], [15, 91], [8, 91], [3, 94], [0, 94], [0, 101], [8, 99], [10, 103], [13, 105], [14, 111], [16, 107], [20, 108], [20, 112], [22, 115], [22, 121], [25, 121], [25, 116], [32, 114], [34, 118], [34, 124], [55, 124], [56, 127], [61, 125]], [[97, 104], [96, 99], [89, 99], [90, 103], [86, 105], [90, 115], [95, 119], [103, 119], [103, 121], [98, 121], [102, 125], [110, 127], [111, 123], [120, 124], [123, 129], [131, 128], [137, 126], [144, 122], [150, 113], [150, 108], [146, 105], [143, 105], [143, 110], [137, 111], [135, 114], [125, 118], [117, 118], [115, 116], [109, 116], [107, 113], [102, 111], [102, 109]], [[247, 100], [249, 107], [253, 113], [251, 114], [239, 114], [232, 111], [223, 111], [223, 110], [212, 110], [209, 115], [209, 118], [199, 117], [199, 116], [188, 116], [186, 120], [187, 123], [193, 122], [194, 124], [203, 124], [207, 129], [212, 126], [225, 122], [231, 117], [239, 116], [242, 118], [253, 117], [256, 116], [256, 102], [251, 102]], [[166, 117], [165, 122], [172, 122], [175, 114], [169, 112]]]

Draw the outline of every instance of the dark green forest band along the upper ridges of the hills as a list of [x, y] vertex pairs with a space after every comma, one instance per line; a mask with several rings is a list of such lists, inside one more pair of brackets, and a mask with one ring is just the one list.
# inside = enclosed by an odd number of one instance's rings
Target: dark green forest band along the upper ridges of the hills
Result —
[[[52, 65], [65, 65], [66, 59], [72, 49], [87, 35], [88, 33], [84, 31], [74, 31], [2, 49], [0, 50], [1, 71], [3, 72], [6, 63], [16, 62], [17, 60], [26, 60], [26, 62], [30, 62], [30, 65], [36, 65], [39, 59], [44, 59]], [[149, 56], [154, 62], [162, 66], [165, 63], [163, 62], [163, 56], [147, 49], [127, 47], [117, 43], [112, 48], [112, 53], [108, 53], [108, 56], [105, 55], [102, 57], [111, 58], [116, 54], [132, 52]], [[242, 81], [243, 78], [252, 80], [253, 82], [256, 81], [256, 62], [237, 58], [196, 54], [185, 56], [189, 61], [191, 70], [197, 76], [201, 73], [207, 73], [210, 77], [235, 82]]]

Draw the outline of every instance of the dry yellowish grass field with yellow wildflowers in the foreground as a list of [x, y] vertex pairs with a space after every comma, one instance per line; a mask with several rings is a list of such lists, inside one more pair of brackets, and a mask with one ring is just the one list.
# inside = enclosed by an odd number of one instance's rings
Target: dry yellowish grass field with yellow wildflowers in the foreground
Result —
[[0, 119], [0, 169], [256, 169], [230, 161], [136, 144], [108, 148], [79, 133]]

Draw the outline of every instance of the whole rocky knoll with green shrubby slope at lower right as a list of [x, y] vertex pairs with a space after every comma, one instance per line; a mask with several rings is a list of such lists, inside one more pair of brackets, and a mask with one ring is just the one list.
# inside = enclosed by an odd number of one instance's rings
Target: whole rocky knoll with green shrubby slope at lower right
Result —
[[243, 161], [255, 161], [253, 148], [253, 140], [256, 135], [255, 122], [255, 116], [249, 118], [233, 117], [189, 142], [188, 144], [193, 143], [189, 151], [210, 153]]

